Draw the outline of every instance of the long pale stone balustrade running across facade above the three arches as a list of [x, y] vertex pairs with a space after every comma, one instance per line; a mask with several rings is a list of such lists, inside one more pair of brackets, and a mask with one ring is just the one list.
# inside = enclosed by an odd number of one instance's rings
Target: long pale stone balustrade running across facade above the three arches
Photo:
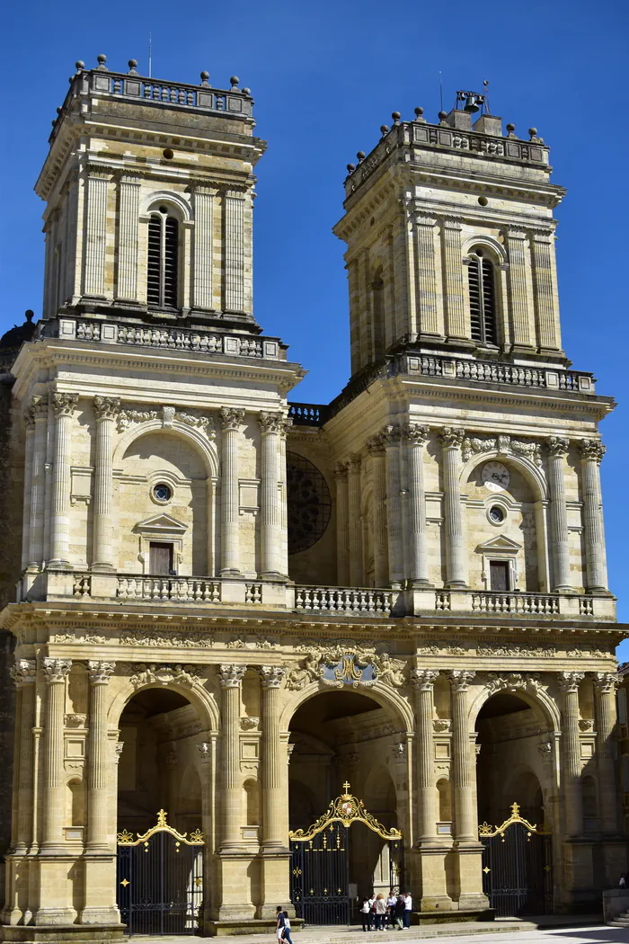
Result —
[[516, 619], [613, 621], [616, 600], [610, 595], [559, 593], [495, 593], [468, 587], [314, 586], [243, 577], [151, 577], [142, 574], [44, 572], [41, 581], [19, 582], [17, 600], [67, 598], [184, 606], [245, 606], [279, 608], [304, 614], [346, 614], [367, 619], [400, 616], [512, 616]]

